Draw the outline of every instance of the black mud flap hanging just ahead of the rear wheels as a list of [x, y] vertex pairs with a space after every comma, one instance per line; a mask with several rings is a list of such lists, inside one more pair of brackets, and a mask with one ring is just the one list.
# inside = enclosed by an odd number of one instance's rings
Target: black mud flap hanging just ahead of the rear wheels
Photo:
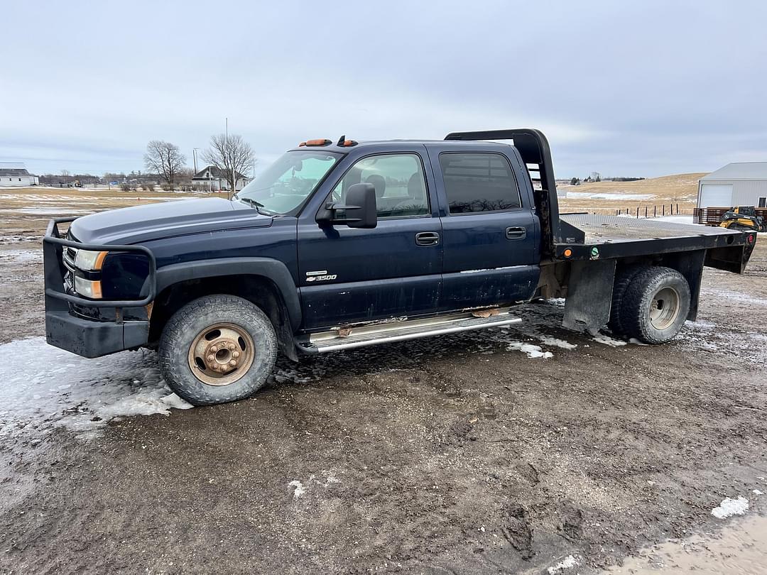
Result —
[[574, 261], [562, 326], [596, 335], [610, 319], [615, 260]]

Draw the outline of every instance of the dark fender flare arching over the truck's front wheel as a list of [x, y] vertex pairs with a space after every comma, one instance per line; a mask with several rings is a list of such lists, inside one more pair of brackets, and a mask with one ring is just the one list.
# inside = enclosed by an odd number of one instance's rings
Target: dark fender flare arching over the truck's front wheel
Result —
[[291, 327], [301, 325], [301, 300], [288, 267], [272, 258], [214, 258], [185, 261], [157, 269], [156, 293], [182, 281], [215, 278], [224, 275], [254, 275], [271, 280], [285, 302]]

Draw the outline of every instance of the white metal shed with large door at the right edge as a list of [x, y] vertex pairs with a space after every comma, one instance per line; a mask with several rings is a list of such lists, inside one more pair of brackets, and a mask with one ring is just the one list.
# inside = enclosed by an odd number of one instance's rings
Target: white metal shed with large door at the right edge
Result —
[[734, 162], [698, 180], [699, 208], [767, 208], [767, 162]]

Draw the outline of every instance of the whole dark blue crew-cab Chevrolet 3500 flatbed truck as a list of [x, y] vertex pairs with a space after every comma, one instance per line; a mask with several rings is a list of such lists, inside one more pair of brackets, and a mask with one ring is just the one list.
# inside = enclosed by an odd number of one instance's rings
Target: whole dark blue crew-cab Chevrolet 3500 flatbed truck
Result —
[[309, 140], [231, 201], [51, 221], [46, 333], [84, 357], [156, 348], [197, 405], [249, 396], [278, 350], [513, 324], [538, 297], [566, 298], [569, 329], [664, 343], [696, 317], [703, 266], [741, 273], [755, 237], [560, 214], [538, 130]]

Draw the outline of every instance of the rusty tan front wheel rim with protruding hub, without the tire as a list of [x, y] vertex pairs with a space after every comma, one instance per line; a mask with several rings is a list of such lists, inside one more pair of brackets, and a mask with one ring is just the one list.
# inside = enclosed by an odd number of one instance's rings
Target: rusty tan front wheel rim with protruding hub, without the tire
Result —
[[250, 334], [235, 324], [215, 324], [202, 330], [189, 346], [189, 369], [202, 383], [228, 386], [252, 366], [255, 345]]

